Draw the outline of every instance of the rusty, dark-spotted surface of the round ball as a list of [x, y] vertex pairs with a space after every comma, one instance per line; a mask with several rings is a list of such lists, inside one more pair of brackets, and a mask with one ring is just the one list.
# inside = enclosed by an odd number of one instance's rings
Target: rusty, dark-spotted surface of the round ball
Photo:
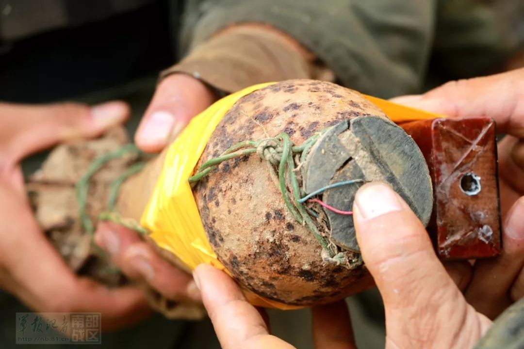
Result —
[[[283, 131], [295, 144], [343, 119], [384, 117], [362, 95], [320, 81], [291, 80], [240, 99], [217, 126], [201, 161], [245, 140]], [[222, 163], [195, 190], [204, 228], [219, 260], [248, 289], [290, 305], [344, 298], [372, 280], [361, 264], [322, 262], [321, 247], [295, 221], [257, 155]], [[357, 257], [357, 256], [355, 256]]]

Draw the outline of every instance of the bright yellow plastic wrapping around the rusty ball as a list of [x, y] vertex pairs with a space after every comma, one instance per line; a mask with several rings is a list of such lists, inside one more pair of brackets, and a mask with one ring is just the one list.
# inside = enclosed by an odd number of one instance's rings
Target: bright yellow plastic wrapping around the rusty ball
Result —
[[[208, 263], [227, 272], [207, 239], [188, 178], [193, 174], [206, 144], [226, 112], [241, 97], [271, 84], [250, 86], [220, 99], [194, 117], [168, 149], [162, 172], [140, 224], [160, 247], [177, 256], [191, 270], [199, 264]], [[376, 97], [365, 97], [397, 123], [442, 117]], [[248, 290], [244, 292], [256, 306], [299, 308], [265, 299]]]

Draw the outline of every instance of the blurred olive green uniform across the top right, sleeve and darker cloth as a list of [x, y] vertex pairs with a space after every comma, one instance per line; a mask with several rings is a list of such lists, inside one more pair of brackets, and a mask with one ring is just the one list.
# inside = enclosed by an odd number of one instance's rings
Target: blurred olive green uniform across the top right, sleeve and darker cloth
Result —
[[503, 70], [524, 49], [521, 0], [189, 1], [180, 48], [246, 22], [288, 33], [340, 83], [384, 98]]

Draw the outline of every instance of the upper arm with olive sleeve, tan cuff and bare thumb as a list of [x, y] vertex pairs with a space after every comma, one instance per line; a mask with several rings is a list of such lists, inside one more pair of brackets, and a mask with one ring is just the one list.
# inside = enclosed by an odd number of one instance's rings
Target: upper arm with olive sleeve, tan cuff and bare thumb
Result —
[[216, 90], [318, 78], [378, 97], [418, 92], [435, 4], [213, 0], [185, 6], [185, 58], [162, 74], [138, 129], [135, 141], [145, 151], [165, 147], [217, 98]]

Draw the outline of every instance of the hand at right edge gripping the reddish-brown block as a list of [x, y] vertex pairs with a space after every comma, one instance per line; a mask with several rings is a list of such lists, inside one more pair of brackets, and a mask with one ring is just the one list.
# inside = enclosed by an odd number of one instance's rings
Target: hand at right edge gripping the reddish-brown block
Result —
[[493, 319], [524, 296], [524, 69], [454, 81], [393, 100], [453, 118], [490, 117], [499, 132], [507, 133], [498, 143], [503, 251], [474, 265], [445, 263], [466, 300]]

